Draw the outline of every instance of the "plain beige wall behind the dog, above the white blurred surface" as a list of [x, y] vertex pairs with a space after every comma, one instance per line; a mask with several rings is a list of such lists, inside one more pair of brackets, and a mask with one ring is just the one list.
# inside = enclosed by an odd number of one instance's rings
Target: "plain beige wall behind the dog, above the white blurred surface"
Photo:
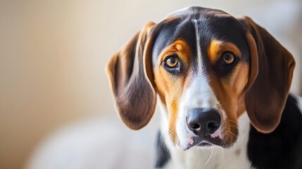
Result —
[[0, 168], [22, 168], [65, 123], [115, 113], [104, 66], [148, 21], [191, 5], [248, 15], [269, 2], [0, 1]]

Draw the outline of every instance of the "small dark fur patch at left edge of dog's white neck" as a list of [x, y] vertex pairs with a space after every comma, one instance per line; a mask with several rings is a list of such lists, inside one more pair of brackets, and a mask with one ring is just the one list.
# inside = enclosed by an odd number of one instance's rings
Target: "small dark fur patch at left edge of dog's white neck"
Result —
[[170, 156], [169, 149], [167, 146], [165, 146], [165, 142], [163, 140], [163, 136], [161, 135], [161, 132], [158, 132], [155, 168], [163, 168], [168, 163], [170, 158], [171, 156]]

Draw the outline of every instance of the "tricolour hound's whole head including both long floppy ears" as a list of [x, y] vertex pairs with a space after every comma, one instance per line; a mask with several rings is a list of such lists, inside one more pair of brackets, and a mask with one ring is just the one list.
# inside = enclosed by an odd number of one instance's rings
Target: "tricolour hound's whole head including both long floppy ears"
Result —
[[156, 94], [175, 147], [236, 142], [245, 111], [259, 132], [275, 130], [287, 99], [294, 58], [251, 18], [190, 7], [149, 23], [108, 63], [120, 118], [144, 127]]

